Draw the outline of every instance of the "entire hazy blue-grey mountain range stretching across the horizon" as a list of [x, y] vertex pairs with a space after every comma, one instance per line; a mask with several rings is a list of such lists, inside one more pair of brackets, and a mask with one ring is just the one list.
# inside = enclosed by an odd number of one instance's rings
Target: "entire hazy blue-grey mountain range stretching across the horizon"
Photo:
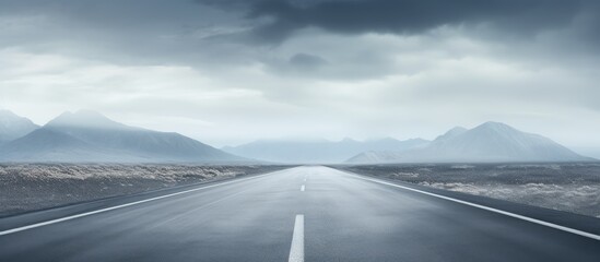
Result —
[[372, 141], [261, 140], [214, 148], [174, 132], [126, 126], [80, 110], [43, 127], [0, 111], [0, 162], [97, 163], [485, 163], [589, 162], [550, 139], [499, 122], [454, 128], [434, 141], [392, 138]]

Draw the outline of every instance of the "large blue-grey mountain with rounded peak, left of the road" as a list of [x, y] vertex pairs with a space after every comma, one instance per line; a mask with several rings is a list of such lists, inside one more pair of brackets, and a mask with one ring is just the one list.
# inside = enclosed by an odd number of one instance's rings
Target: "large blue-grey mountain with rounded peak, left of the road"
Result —
[[3, 162], [248, 162], [178, 133], [129, 127], [86, 110], [64, 112], [5, 143], [0, 153]]

